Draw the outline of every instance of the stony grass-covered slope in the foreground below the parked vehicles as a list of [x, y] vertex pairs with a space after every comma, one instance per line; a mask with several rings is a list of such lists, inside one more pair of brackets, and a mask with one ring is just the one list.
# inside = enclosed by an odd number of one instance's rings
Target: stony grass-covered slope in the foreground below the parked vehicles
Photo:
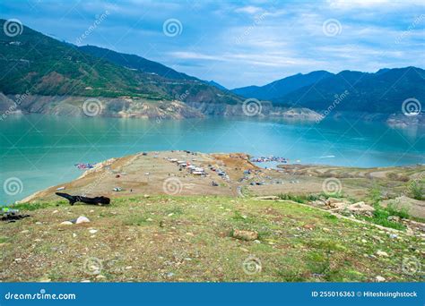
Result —
[[[20, 208], [30, 217], [0, 223], [1, 281], [423, 280], [403, 268], [423, 266], [420, 238], [291, 201], [141, 196], [109, 207], [59, 200]], [[91, 222], [60, 225], [79, 216]], [[259, 237], [241, 241], [234, 229]]]

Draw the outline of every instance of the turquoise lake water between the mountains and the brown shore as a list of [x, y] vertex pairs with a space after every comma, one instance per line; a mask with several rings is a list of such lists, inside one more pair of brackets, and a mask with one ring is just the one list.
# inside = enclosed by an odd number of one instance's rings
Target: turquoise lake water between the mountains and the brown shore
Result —
[[[287, 157], [290, 163], [299, 160], [302, 164], [401, 166], [425, 163], [423, 135], [423, 129], [395, 129], [383, 123], [345, 119], [321, 123], [250, 118], [157, 122], [9, 116], [0, 121], [0, 205], [73, 180], [82, 173], [74, 164], [140, 151], [246, 152]], [[5, 183], [9, 192], [4, 191]]]

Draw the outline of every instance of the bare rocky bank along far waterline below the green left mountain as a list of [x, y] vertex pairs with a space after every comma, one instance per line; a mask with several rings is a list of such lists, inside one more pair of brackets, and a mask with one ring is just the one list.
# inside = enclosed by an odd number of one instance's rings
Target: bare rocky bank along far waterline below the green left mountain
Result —
[[[123, 118], [182, 119], [205, 115], [273, 116], [299, 120], [319, 120], [321, 115], [308, 108], [284, 108], [270, 102], [250, 104], [183, 102], [179, 100], [152, 101], [143, 98], [87, 98], [71, 96], [22, 95], [2, 96], [2, 112], [13, 108], [23, 114], [86, 115]], [[0, 97], [0, 98], [2, 98]], [[17, 102], [15, 102], [17, 101]]]

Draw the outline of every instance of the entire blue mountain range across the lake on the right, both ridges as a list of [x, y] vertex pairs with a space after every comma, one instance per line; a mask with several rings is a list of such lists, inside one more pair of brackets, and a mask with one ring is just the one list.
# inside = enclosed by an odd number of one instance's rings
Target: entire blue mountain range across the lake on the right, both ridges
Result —
[[400, 112], [407, 98], [425, 101], [425, 71], [417, 67], [376, 73], [317, 71], [231, 91], [245, 98], [269, 99], [279, 106], [321, 111], [339, 99], [337, 111], [388, 114]]

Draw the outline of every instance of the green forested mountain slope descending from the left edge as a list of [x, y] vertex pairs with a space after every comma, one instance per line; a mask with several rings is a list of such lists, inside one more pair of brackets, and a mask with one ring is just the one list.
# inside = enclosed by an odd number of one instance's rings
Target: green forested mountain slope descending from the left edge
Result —
[[[3, 26], [4, 20], [0, 20], [2, 29]], [[5, 95], [28, 91], [30, 95], [42, 96], [181, 99], [217, 104], [240, 102], [235, 94], [142, 57], [97, 47], [91, 47], [87, 53], [87, 49], [25, 26], [16, 37], [8, 37], [1, 31], [0, 92]], [[116, 63], [102, 58], [100, 53], [114, 57]]]

